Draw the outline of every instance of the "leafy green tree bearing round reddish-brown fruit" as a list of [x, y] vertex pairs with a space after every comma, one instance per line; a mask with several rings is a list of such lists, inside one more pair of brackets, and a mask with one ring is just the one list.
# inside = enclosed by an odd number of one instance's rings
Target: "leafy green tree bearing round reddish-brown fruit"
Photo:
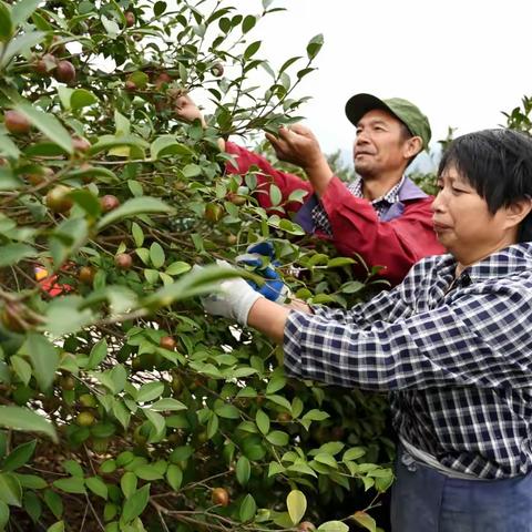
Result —
[[[259, 207], [253, 168], [226, 174], [217, 139], [296, 120], [321, 45], [274, 70], [255, 27], [280, 9], [238, 9], [0, 2], [1, 529], [377, 530], [386, 400], [287, 378], [197, 298], [237, 275], [216, 258], [265, 238], [311, 303], [378, 283], [305, 236], [275, 185]], [[197, 88], [205, 126], [174, 112]]]

